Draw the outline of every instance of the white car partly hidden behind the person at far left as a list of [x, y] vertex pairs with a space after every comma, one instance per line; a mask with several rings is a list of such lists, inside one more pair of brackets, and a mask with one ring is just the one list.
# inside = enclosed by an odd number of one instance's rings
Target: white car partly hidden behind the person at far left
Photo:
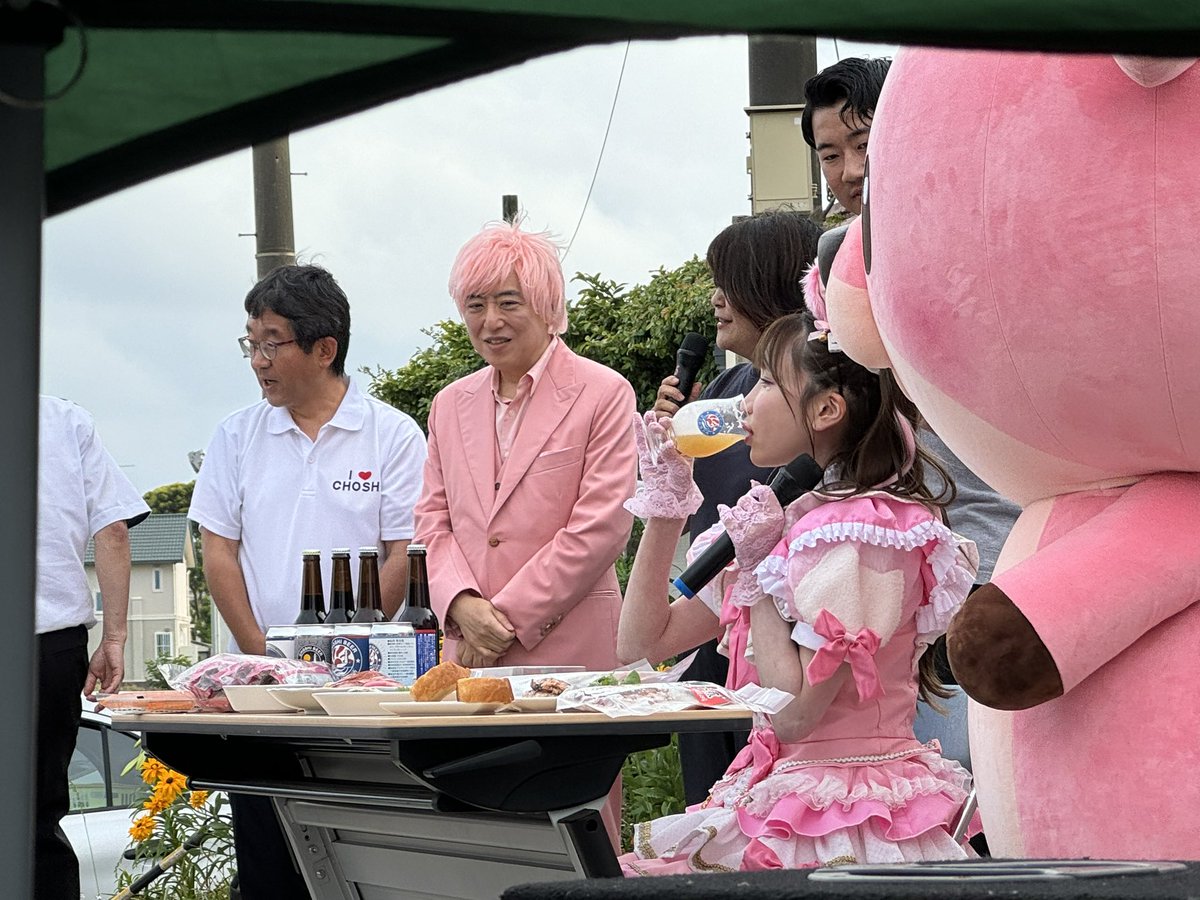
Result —
[[67, 769], [71, 811], [62, 817], [62, 830], [79, 857], [86, 900], [116, 893], [116, 864], [130, 845], [130, 804], [145, 793], [137, 768], [121, 774], [138, 755], [137, 737], [113, 731], [108, 714], [90, 706], [84, 704]]

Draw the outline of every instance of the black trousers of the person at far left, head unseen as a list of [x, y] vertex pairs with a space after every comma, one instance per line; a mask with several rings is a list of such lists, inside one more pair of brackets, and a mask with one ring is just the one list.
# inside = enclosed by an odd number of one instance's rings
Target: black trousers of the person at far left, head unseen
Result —
[[37, 775], [34, 796], [34, 896], [79, 900], [79, 860], [59, 822], [71, 809], [67, 767], [79, 733], [88, 629], [37, 636]]

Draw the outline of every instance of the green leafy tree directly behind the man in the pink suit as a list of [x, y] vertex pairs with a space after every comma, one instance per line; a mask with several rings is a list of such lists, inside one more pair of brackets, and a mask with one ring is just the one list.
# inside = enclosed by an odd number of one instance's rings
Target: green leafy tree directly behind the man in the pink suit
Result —
[[[577, 274], [583, 284], [569, 306], [570, 328], [563, 340], [581, 356], [620, 372], [634, 385], [638, 409], [654, 404], [662, 377], [674, 371], [674, 353], [689, 331], [715, 338], [709, 298], [713, 277], [702, 259], [692, 258], [678, 269], [659, 269], [646, 284], [626, 290], [624, 284], [600, 275]], [[362, 370], [371, 377], [370, 391], [385, 403], [403, 409], [426, 428], [433, 395], [484, 362], [470, 346], [461, 322], [443, 320], [424, 334], [431, 347], [419, 350], [396, 370]], [[716, 373], [709, 359], [697, 380]], [[426, 428], [427, 430], [427, 428]]]

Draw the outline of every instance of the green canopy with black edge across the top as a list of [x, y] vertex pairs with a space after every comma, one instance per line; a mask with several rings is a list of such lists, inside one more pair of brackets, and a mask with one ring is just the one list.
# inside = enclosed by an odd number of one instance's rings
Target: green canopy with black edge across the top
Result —
[[[28, 0], [26, 0], [28, 1]], [[49, 215], [247, 144], [570, 47], [794, 32], [1187, 54], [1180, 0], [61, 0]], [[2, 7], [0, 2], [0, 7]], [[37, 8], [37, 4], [32, 8]], [[2, 31], [0, 17], [0, 31]]]

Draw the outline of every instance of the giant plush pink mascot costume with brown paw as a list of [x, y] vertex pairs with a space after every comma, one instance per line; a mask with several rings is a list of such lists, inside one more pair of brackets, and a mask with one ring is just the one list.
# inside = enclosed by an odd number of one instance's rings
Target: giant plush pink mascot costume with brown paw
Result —
[[1192, 60], [902, 52], [872, 122], [833, 332], [1024, 506], [949, 632], [996, 856], [1200, 858], [1198, 166]]

